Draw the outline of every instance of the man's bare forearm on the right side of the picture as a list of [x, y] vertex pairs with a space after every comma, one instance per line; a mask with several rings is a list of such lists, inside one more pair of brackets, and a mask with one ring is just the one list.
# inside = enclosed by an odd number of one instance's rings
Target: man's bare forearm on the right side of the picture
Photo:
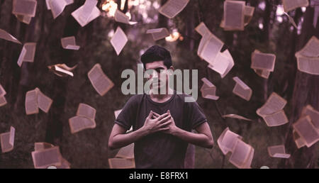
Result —
[[202, 133], [192, 133], [181, 128], [175, 128], [172, 135], [188, 143], [201, 146], [203, 148], [213, 148], [213, 139]]

